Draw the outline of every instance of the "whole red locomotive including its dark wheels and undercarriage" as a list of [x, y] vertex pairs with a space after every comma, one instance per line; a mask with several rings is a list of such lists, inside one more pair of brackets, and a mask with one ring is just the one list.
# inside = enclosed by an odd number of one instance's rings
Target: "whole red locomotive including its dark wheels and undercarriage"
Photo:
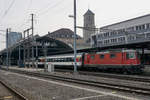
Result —
[[140, 73], [140, 54], [135, 50], [97, 52], [84, 55], [84, 66], [112, 71]]

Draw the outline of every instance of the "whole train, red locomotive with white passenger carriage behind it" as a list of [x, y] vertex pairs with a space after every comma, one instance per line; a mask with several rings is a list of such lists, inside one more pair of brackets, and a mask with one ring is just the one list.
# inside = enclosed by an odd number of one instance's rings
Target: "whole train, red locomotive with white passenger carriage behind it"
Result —
[[[28, 63], [29, 64], [29, 63]], [[58, 67], [73, 67], [74, 54], [61, 54], [39, 57], [38, 66], [53, 64]], [[123, 73], [142, 73], [141, 54], [137, 50], [110, 50], [103, 52], [77, 53], [77, 68], [96, 68], [99, 70]]]

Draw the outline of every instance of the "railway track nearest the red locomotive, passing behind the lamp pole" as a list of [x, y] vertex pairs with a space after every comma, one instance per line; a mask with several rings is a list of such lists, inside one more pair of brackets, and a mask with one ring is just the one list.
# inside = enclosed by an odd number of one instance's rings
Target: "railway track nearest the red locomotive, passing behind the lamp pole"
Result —
[[[70, 72], [73, 73], [72, 70], [66, 69], [56, 69], [57, 72]], [[150, 83], [150, 78], [148, 76], [140, 76], [140, 75], [122, 75], [122, 74], [111, 74], [111, 73], [102, 73], [102, 72], [90, 72], [90, 71], [78, 71], [80, 75], [91, 75], [96, 77], [105, 77], [105, 78], [114, 78], [121, 80], [131, 80], [137, 82], [148, 82]]]

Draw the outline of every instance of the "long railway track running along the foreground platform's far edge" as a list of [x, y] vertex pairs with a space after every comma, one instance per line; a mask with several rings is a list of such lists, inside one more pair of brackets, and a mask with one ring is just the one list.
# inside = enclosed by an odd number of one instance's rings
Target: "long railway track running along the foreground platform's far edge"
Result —
[[20, 71], [20, 70], [14, 70], [14, 69], [10, 71], [19, 73], [19, 74], [26, 74], [26, 75], [31, 75], [35, 77], [40, 77], [40, 78], [47, 78], [47, 79], [53, 79], [53, 80], [59, 80], [59, 81], [65, 81], [65, 82], [70, 82], [70, 83], [77, 83], [81, 85], [107, 88], [107, 89], [113, 89], [113, 90], [119, 90], [119, 91], [131, 92], [131, 93], [138, 93], [138, 94], [143, 94], [143, 95], [150, 95], [149, 88], [135, 87], [135, 86], [130, 86], [130, 85], [127, 86], [127, 85], [120, 85], [120, 84], [111, 84], [111, 83], [83, 80], [83, 79], [78, 79], [78, 78], [69, 78], [69, 77], [63, 77], [63, 76], [57, 76], [57, 75], [45, 74], [45, 73]]

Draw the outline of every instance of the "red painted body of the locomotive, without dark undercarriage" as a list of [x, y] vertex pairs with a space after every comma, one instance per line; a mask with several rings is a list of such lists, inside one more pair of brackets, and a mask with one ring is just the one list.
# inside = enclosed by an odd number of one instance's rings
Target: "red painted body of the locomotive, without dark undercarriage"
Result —
[[[133, 57], [129, 57], [131, 55]], [[140, 59], [136, 52], [106, 52], [85, 54], [85, 65], [139, 65]]]

